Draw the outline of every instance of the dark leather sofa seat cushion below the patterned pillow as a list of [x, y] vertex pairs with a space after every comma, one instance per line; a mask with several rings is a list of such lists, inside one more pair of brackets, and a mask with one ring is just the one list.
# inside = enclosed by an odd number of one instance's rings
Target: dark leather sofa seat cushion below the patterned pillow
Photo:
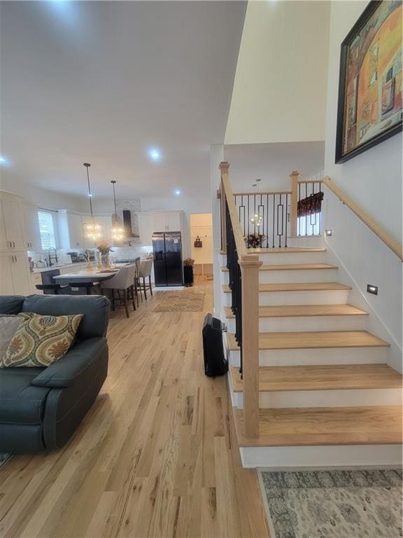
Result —
[[50, 389], [31, 385], [31, 380], [41, 370], [42, 368], [6, 368], [1, 371], [0, 423], [41, 424]]

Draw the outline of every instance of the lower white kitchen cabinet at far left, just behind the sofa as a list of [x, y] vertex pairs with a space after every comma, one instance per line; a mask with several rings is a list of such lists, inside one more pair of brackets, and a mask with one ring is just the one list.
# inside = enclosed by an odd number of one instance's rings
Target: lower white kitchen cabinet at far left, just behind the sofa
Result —
[[0, 254], [0, 295], [29, 295], [31, 282], [26, 252]]

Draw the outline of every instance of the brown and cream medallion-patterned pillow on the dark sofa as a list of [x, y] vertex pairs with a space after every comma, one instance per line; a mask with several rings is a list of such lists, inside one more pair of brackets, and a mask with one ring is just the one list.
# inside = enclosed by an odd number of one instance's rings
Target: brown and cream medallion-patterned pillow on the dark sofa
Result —
[[0, 368], [49, 366], [61, 359], [73, 343], [82, 314], [41, 316], [24, 313], [24, 321], [14, 334]]

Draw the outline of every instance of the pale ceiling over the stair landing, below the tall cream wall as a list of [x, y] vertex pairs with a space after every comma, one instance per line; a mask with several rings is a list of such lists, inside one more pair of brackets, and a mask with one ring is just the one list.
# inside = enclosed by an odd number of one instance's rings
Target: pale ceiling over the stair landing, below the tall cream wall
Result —
[[281, 142], [277, 144], [234, 144], [225, 146], [232, 190], [253, 191], [256, 179], [260, 191], [288, 190], [292, 170], [309, 179], [325, 167], [325, 142]]

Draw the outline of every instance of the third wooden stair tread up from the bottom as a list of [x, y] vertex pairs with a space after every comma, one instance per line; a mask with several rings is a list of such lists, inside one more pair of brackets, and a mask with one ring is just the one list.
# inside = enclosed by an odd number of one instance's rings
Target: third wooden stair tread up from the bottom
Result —
[[[230, 351], [239, 350], [235, 336], [227, 333]], [[260, 333], [260, 350], [299, 350], [326, 347], [387, 347], [389, 344], [367, 331], [305, 331]]]

